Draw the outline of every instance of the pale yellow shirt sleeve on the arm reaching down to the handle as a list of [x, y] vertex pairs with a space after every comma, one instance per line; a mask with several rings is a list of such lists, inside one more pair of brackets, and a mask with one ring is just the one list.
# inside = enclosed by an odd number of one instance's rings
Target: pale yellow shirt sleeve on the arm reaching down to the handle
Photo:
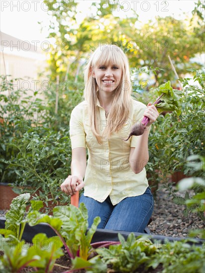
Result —
[[83, 110], [80, 107], [75, 107], [71, 113], [70, 119], [70, 139], [71, 147], [86, 148], [86, 133], [83, 125]]

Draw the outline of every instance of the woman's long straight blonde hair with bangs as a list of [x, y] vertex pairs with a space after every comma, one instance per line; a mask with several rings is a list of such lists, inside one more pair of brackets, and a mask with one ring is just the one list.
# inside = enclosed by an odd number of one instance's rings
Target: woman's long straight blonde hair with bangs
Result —
[[122, 69], [122, 75], [119, 85], [113, 91], [112, 104], [107, 116], [108, 125], [104, 129], [103, 135], [110, 136], [112, 132], [117, 132], [122, 128], [131, 110], [132, 88], [128, 59], [124, 52], [115, 45], [99, 46], [91, 55], [84, 73], [84, 99], [88, 103], [91, 130], [99, 143], [102, 143], [102, 135], [98, 131], [98, 122], [101, 119], [99, 107], [96, 106], [98, 85], [92, 73], [97, 66], [108, 66], [110, 63], [119, 66]]

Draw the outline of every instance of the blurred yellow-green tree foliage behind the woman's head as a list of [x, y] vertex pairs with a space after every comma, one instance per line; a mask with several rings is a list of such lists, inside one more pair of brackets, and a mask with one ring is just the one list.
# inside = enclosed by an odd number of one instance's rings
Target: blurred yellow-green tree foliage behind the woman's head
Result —
[[[47, 4], [48, 1], [44, 0], [44, 2]], [[202, 30], [200, 32], [201, 25], [193, 18], [183, 21], [171, 16], [156, 17], [154, 21], [149, 21], [138, 28], [136, 12], [133, 12], [129, 18], [118, 17], [117, 1], [109, 1], [109, 5], [102, 8], [104, 1], [101, 0], [100, 3], [93, 1], [92, 6], [96, 10], [78, 25], [76, 21], [78, 2], [70, 1], [69, 11], [63, 8], [56, 10], [57, 1], [50, 2], [49, 12], [52, 21], [49, 26], [49, 37], [55, 38], [57, 44], [57, 47], [50, 52], [49, 67], [52, 79], [55, 78], [56, 72], [60, 73], [61, 80], [65, 78], [70, 63], [70, 79], [77, 79], [79, 74], [79, 79], [83, 80], [84, 67], [81, 59], [87, 60], [91, 51], [100, 43], [120, 46], [127, 53], [131, 68], [163, 69], [156, 70], [156, 82], [165, 79], [175, 80], [168, 55], [173, 60], [179, 76], [183, 76], [188, 68], [201, 68], [196, 62], [190, 62], [191, 58], [202, 52], [203, 38]], [[58, 4], [66, 5], [66, 2], [61, 0]], [[196, 5], [193, 14], [203, 18], [203, 15], [197, 12], [198, 8], [199, 6]], [[71, 58], [74, 59], [72, 64]]]

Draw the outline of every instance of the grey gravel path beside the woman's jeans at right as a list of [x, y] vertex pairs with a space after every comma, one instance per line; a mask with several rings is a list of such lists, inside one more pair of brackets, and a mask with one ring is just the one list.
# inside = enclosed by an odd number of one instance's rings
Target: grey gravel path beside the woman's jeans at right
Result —
[[[192, 196], [193, 192], [190, 191], [189, 194]], [[177, 195], [184, 197], [184, 194], [179, 192]], [[185, 206], [175, 204], [164, 189], [157, 191], [152, 222], [148, 226], [151, 234], [188, 237], [190, 230], [205, 228], [205, 222], [198, 217], [197, 213], [190, 213], [188, 217], [185, 217], [184, 209]], [[0, 216], [4, 216], [5, 212], [0, 210]]]

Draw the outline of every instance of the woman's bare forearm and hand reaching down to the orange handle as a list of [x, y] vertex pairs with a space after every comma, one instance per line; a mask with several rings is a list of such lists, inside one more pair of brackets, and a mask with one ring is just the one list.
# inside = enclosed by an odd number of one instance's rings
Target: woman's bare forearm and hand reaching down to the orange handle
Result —
[[80, 191], [85, 183], [83, 181], [87, 166], [86, 148], [75, 148], [72, 150], [71, 175], [61, 184], [61, 190], [73, 195]]

